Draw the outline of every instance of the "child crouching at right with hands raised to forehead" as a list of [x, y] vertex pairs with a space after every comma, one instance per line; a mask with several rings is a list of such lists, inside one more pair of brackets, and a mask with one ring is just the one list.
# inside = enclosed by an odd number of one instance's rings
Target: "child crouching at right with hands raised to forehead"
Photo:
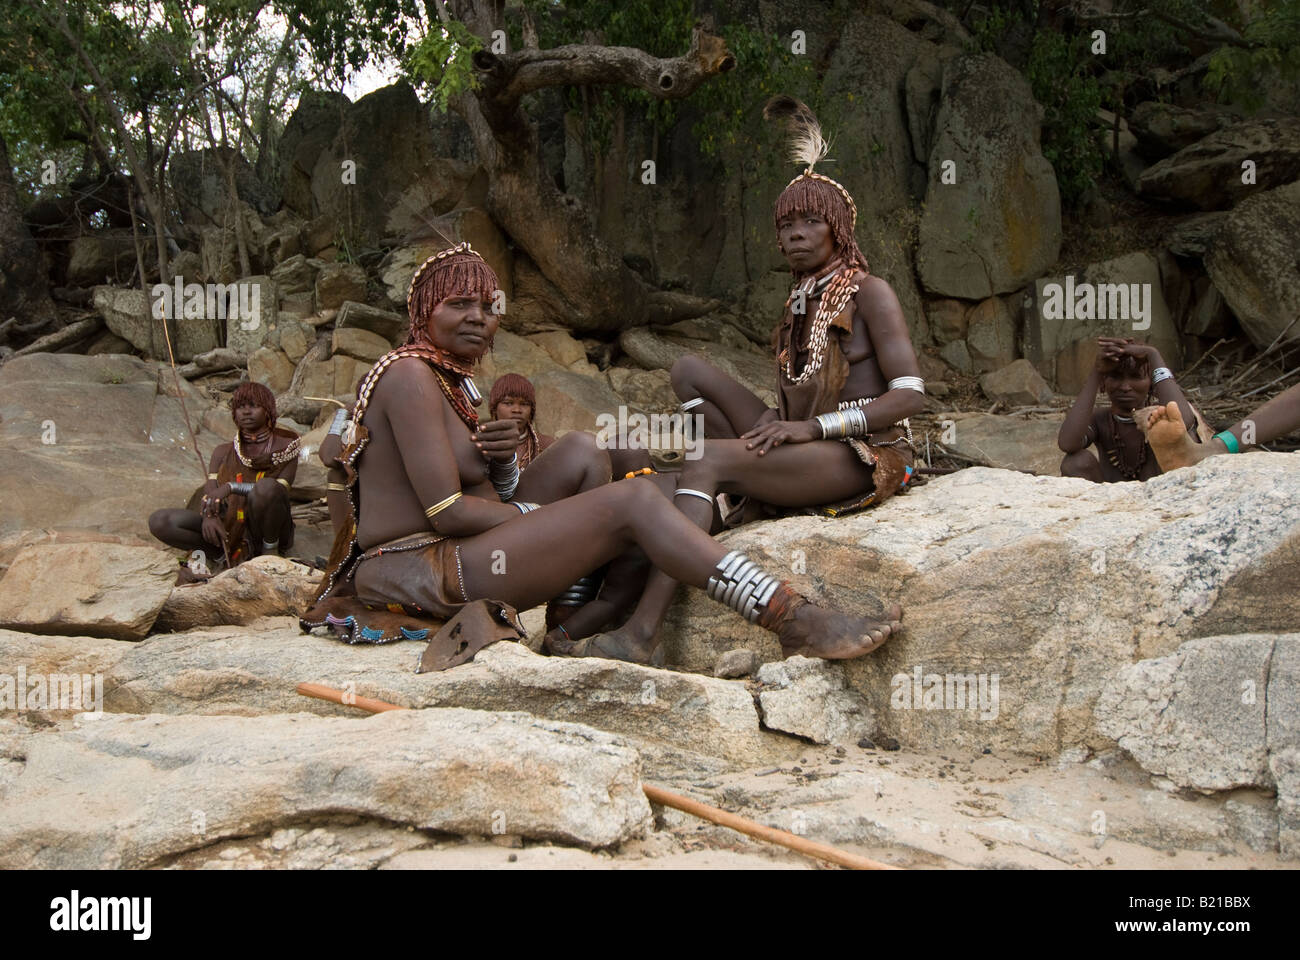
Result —
[[[1095, 408], [1098, 390], [1110, 398], [1109, 408]], [[1152, 402], [1152, 395], [1161, 403], [1175, 403], [1183, 423], [1190, 424], [1188, 434], [1200, 442], [1196, 415], [1160, 351], [1132, 340], [1101, 337], [1097, 362], [1057, 434], [1057, 446], [1065, 453], [1061, 476], [1106, 484], [1160, 476], [1156, 454], [1134, 416]], [[1096, 457], [1087, 450], [1092, 445]]]

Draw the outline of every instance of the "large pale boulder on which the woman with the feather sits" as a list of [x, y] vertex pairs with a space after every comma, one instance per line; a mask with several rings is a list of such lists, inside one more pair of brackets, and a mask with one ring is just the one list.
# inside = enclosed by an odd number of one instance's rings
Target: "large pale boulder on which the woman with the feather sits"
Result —
[[[1296, 463], [1218, 457], [1144, 484], [974, 468], [866, 514], [722, 539], [845, 609], [902, 604], [904, 633], [838, 667], [881, 732], [1053, 756], [1109, 743], [1093, 706], [1121, 667], [1197, 636], [1300, 630], [1279, 589], [1300, 567]], [[780, 658], [771, 635], [689, 588], [663, 636], [690, 670], [736, 647]]]

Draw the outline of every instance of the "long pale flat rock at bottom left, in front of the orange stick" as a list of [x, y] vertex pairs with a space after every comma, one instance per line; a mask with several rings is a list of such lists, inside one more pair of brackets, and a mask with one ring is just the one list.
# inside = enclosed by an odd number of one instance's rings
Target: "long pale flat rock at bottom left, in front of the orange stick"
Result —
[[74, 730], [0, 738], [0, 756], [23, 762], [0, 795], [5, 869], [159, 866], [324, 814], [581, 847], [650, 823], [634, 751], [521, 713], [86, 714]]

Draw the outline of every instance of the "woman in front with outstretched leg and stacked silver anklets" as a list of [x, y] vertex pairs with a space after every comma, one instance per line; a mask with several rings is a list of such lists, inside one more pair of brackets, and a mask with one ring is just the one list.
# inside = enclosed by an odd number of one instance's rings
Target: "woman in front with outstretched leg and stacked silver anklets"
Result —
[[356, 540], [304, 627], [329, 624], [351, 641], [422, 637], [471, 601], [543, 604], [637, 545], [776, 632], [786, 654], [857, 657], [897, 628], [897, 611], [874, 620], [810, 604], [712, 540], [646, 477], [558, 494], [563, 471], [543, 464], [571, 436], [603, 455], [590, 434], [566, 434], [520, 473], [517, 431], [478, 424], [468, 380], [497, 332], [497, 286], [465, 243], [412, 280], [411, 334], [367, 376], [346, 437]]

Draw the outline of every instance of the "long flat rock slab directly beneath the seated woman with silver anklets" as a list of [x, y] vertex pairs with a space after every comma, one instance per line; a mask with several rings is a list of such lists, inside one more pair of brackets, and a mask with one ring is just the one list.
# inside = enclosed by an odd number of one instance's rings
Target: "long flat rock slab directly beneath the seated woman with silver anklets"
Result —
[[[283, 623], [282, 620], [280, 623]], [[105, 683], [105, 709], [125, 713], [265, 714], [354, 708], [306, 700], [303, 682], [410, 708], [526, 710], [623, 735], [655, 771], [715, 770], [785, 756], [785, 738], [759, 730], [744, 683], [598, 658], [541, 657], [500, 643], [473, 662], [415, 674], [419, 643], [348, 647], [296, 627], [157, 635], [124, 657]]]

